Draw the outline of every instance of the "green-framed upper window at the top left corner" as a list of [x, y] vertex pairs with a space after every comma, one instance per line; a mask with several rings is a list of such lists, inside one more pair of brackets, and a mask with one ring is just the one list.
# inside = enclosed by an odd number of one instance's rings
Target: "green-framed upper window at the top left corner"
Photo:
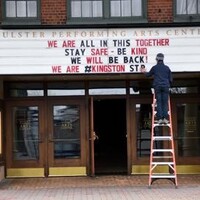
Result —
[[39, 0], [4, 0], [4, 22], [39, 22]]

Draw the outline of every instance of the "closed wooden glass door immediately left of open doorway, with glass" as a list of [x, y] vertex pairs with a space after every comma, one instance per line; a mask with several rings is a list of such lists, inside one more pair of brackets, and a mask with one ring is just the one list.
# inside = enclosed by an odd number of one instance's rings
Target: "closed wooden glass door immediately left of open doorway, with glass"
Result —
[[83, 108], [76, 101], [49, 102], [49, 176], [86, 174]]

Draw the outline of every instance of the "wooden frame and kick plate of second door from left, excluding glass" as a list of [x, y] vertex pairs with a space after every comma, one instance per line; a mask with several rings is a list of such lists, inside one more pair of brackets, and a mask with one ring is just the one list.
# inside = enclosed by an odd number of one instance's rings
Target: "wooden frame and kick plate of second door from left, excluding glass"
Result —
[[[79, 105], [80, 106], [80, 158], [53, 159], [53, 120], [51, 118], [53, 105]], [[84, 98], [49, 98], [47, 103], [47, 176], [73, 176], [86, 175], [86, 122], [85, 122], [85, 99]]]

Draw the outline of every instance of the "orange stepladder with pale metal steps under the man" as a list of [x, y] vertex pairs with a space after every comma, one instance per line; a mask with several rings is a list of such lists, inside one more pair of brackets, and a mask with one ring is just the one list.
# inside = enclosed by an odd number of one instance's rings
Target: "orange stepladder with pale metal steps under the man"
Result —
[[[155, 120], [156, 98], [154, 93], [152, 103], [149, 188], [157, 179], [168, 179], [174, 183], [176, 188], [178, 186], [170, 97], [168, 99], [168, 115], [169, 122], [166, 124], [158, 123]], [[165, 132], [163, 133], [164, 129]], [[162, 134], [158, 134], [158, 132], [161, 132]]]

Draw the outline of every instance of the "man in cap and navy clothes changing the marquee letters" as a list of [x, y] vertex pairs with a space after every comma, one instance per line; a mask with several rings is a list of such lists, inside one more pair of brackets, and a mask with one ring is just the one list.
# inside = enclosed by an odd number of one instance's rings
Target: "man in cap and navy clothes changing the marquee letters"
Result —
[[157, 64], [154, 65], [149, 72], [146, 72], [145, 68], [141, 68], [140, 71], [144, 73], [146, 77], [153, 76], [153, 88], [157, 103], [156, 118], [159, 124], [167, 124], [169, 123], [168, 98], [169, 88], [172, 84], [172, 73], [170, 68], [164, 64], [163, 53], [157, 54], [156, 61]]

